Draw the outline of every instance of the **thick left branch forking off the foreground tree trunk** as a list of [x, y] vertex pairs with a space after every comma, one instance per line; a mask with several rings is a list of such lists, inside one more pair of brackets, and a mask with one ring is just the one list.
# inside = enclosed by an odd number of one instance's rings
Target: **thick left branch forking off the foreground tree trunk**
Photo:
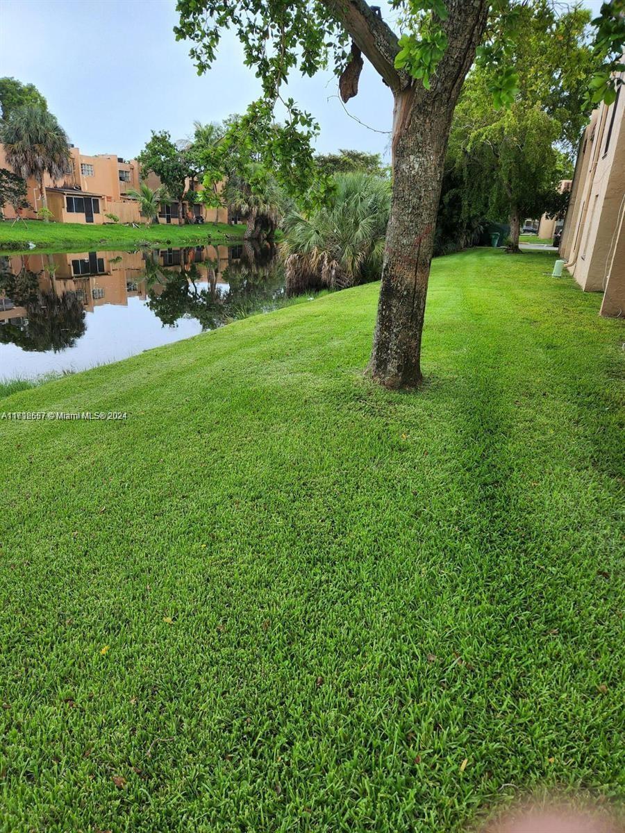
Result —
[[399, 52], [398, 37], [393, 29], [379, 17], [364, 0], [322, 0], [333, 17], [343, 23], [353, 42], [368, 57], [379, 74], [399, 92], [411, 83], [408, 72], [395, 69], [395, 56]]

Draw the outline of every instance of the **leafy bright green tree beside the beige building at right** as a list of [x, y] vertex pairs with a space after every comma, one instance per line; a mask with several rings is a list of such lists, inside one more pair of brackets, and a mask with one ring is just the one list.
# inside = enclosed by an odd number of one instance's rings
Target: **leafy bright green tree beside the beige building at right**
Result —
[[456, 107], [448, 167], [463, 182], [463, 220], [507, 218], [511, 252], [519, 251], [523, 218], [553, 206], [592, 106], [589, 20], [578, 7], [562, 14], [546, 2], [521, 7], [523, 37], [510, 46], [518, 77], [511, 107], [493, 107], [493, 67], [470, 73]]

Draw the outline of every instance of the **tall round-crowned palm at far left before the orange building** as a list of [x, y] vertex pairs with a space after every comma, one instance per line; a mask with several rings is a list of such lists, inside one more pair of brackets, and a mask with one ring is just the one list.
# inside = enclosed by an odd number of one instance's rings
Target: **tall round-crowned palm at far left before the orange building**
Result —
[[42, 208], [47, 208], [43, 177], [59, 179], [67, 171], [69, 143], [67, 133], [51, 112], [25, 104], [16, 107], [0, 127], [7, 162], [24, 179], [36, 180]]

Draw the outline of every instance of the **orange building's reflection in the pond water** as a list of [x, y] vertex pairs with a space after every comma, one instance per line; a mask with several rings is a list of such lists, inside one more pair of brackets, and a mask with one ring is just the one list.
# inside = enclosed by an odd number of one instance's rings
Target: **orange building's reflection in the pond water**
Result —
[[[238, 262], [243, 247], [198, 246], [156, 249], [143, 252], [76, 252], [72, 254], [28, 254], [2, 258], [2, 271], [18, 275], [26, 271], [37, 276], [39, 292], [71, 294], [88, 312], [104, 304], [126, 306], [128, 298], [160, 295], [168, 272], [187, 272], [193, 282], [213, 287], [227, 283], [224, 272]], [[28, 322], [25, 307], [6, 297], [0, 289], [0, 326]]]

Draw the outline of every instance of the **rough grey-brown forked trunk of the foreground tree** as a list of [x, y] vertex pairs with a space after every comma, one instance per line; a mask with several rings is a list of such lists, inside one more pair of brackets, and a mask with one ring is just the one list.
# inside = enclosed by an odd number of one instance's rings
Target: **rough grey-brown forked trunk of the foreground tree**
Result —
[[[367, 32], [360, 32], [359, 21], [364, 19], [369, 31], [377, 24], [369, 20], [366, 10], [358, 17], [360, 6], [358, 0], [348, 0], [343, 17], [348, 22], [353, 18], [350, 32], [370, 57], [376, 44], [372, 46]], [[448, 46], [431, 79], [431, 90], [421, 81], [396, 79], [382, 60], [385, 56], [378, 53], [378, 71], [388, 79], [395, 96], [393, 200], [368, 369], [373, 379], [390, 388], [414, 388], [422, 382], [421, 335], [445, 152], [453, 111], [486, 27], [489, 4], [486, 0], [448, 0], [447, 7], [449, 16], [443, 27]], [[383, 37], [383, 32], [377, 37]]]

